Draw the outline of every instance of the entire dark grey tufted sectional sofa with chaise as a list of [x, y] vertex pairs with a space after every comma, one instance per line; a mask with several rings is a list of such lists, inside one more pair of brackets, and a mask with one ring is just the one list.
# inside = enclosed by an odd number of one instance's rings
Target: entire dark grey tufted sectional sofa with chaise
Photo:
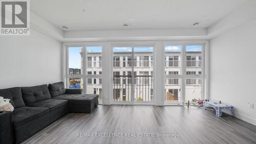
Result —
[[13, 112], [0, 111], [0, 143], [19, 143], [68, 112], [91, 113], [98, 94], [66, 89], [63, 82], [32, 87], [0, 89], [10, 99]]

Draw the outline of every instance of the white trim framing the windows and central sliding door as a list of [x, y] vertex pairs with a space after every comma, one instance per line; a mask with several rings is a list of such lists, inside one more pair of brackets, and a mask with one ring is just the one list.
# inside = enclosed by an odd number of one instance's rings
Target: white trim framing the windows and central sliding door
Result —
[[[164, 44], [205, 44], [205, 59], [203, 60], [205, 62], [204, 64], [204, 72], [205, 74], [203, 74], [202, 72], [202, 76], [205, 76], [204, 81], [202, 81], [202, 83], [204, 83], [205, 85], [202, 87], [204, 88], [204, 91], [202, 89], [202, 93], [204, 93], [204, 97], [208, 98], [208, 78], [209, 78], [209, 42], [208, 40], [152, 40], [152, 41], [99, 41], [99, 42], [65, 42], [62, 43], [62, 47], [63, 47], [63, 53], [62, 53], [62, 60], [63, 60], [63, 64], [62, 64], [62, 77], [63, 77], [63, 81], [67, 81], [67, 75], [66, 75], [66, 71], [67, 71], [67, 45], [83, 45], [84, 47], [86, 45], [101, 45], [102, 46], [102, 75], [101, 77], [104, 78], [102, 79], [102, 103], [104, 105], [110, 105], [111, 104], [111, 93], [113, 92], [113, 90], [111, 89], [111, 84], [112, 83], [112, 78], [111, 75], [113, 75], [112, 73], [112, 46], [120, 46], [120, 45], [155, 45], [154, 47], [154, 104], [157, 106], [163, 106], [164, 105], [164, 98], [165, 98], [165, 93], [164, 93], [164, 82], [165, 82], [165, 71], [164, 71]], [[203, 53], [203, 52], [202, 52]], [[181, 60], [182, 61], [182, 60]], [[86, 64], [86, 63], [84, 63]], [[182, 62], [181, 62], [181, 67]], [[203, 66], [203, 63], [202, 63]], [[183, 71], [181, 71], [181, 73], [183, 73]], [[86, 71], [83, 71], [83, 75], [86, 74]], [[111, 75], [110, 75], [111, 74]], [[100, 75], [99, 75], [100, 76]], [[98, 75], [94, 76], [94, 75], [90, 75], [90, 77], [92, 78], [96, 78], [99, 77]], [[180, 78], [179, 75], [173, 75], [173, 78]], [[191, 78], [198, 78], [198, 76], [196, 75], [191, 75], [189, 76]], [[87, 76], [84, 76], [84, 78], [88, 78]], [[183, 78], [184, 79], [184, 78]], [[185, 80], [184, 80], [185, 81]], [[182, 86], [184, 86], [184, 81]], [[84, 85], [85, 86], [85, 85]], [[156, 94], [157, 93], [157, 94]], [[182, 91], [181, 91], [181, 94]], [[139, 104], [143, 104], [143, 103], [139, 103]], [[152, 105], [152, 104], [151, 104]]]

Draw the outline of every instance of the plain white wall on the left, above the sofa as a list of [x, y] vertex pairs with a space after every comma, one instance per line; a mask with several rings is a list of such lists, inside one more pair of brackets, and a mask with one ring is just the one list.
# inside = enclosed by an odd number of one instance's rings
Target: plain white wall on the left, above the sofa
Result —
[[0, 36], [0, 88], [61, 81], [61, 42], [31, 30]]

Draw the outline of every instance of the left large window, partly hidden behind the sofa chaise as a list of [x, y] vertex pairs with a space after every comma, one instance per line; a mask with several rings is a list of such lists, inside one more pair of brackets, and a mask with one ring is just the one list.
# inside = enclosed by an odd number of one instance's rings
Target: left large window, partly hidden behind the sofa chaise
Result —
[[102, 47], [68, 46], [67, 57], [67, 87], [99, 94], [99, 102], [102, 102]]

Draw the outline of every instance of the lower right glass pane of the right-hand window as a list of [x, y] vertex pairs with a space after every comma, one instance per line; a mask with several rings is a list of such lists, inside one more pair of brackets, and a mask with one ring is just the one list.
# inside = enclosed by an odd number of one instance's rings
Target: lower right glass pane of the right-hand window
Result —
[[202, 79], [186, 79], [185, 103], [197, 104], [202, 99]]

